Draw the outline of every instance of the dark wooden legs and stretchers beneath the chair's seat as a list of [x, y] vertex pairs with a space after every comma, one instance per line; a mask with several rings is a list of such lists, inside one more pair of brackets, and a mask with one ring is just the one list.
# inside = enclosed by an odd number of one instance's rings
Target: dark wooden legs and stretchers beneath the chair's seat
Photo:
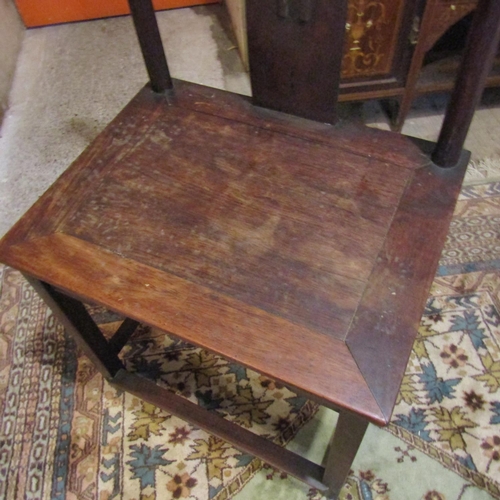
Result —
[[[339, 412], [337, 426], [327, 450], [326, 465], [324, 468], [317, 466], [272, 442], [268, 442], [265, 438], [224, 421], [221, 417], [208, 414], [206, 410], [184, 401], [181, 397], [159, 388], [148, 380], [128, 374], [118, 357], [118, 352], [137, 326], [137, 322], [126, 319], [114, 337], [107, 340], [81, 301], [31, 276], [25, 275], [25, 278], [47, 303], [68, 333], [74, 336], [101, 374], [110, 382], [219, 435], [222, 439], [233, 442], [237, 447], [239, 445], [245, 451], [261, 456], [264, 460], [288, 471], [314, 487], [321, 490], [325, 486], [328, 487], [326, 493], [328, 498], [336, 499], [338, 497], [368, 426], [368, 422], [364, 418], [353, 413]], [[186, 408], [184, 408], [185, 406]]]

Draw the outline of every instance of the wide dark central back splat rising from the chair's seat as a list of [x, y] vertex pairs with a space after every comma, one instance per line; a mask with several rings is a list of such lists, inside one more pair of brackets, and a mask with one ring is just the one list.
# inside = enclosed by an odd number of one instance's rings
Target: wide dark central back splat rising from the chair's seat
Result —
[[246, 1], [255, 104], [335, 122], [346, 12], [344, 1]]

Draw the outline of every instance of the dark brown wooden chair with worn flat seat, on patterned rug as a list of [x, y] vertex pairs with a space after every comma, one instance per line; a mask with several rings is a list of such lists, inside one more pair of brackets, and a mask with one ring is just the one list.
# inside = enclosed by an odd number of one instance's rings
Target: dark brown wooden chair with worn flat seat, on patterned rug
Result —
[[[113, 384], [333, 498], [368, 422], [391, 418], [466, 168], [500, 2], [480, 2], [434, 150], [332, 125], [344, 1], [247, 1], [253, 101], [172, 82], [150, 1], [130, 5], [151, 83], [8, 233], [0, 259]], [[82, 301], [127, 318], [111, 340]], [[338, 411], [325, 465], [127, 372], [118, 354], [138, 322]]]

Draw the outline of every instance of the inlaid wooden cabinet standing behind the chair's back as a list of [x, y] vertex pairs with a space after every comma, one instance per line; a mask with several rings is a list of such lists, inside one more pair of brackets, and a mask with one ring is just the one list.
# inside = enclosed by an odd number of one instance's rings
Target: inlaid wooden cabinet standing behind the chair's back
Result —
[[[248, 61], [245, 0], [226, 3]], [[460, 54], [425, 66], [424, 58], [476, 5], [477, 0], [348, 0], [339, 100], [383, 99], [393, 130], [400, 131], [415, 97], [453, 89]], [[498, 59], [486, 86], [500, 86]]]

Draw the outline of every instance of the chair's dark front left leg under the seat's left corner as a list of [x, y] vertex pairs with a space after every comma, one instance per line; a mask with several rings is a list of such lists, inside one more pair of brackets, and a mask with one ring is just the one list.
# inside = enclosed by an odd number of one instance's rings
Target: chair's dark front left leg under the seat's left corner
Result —
[[109, 345], [85, 306], [51, 285], [31, 276], [24, 276], [50, 307], [54, 316], [73, 335], [82, 350], [107, 379], [112, 379], [124, 366], [116, 350]]

